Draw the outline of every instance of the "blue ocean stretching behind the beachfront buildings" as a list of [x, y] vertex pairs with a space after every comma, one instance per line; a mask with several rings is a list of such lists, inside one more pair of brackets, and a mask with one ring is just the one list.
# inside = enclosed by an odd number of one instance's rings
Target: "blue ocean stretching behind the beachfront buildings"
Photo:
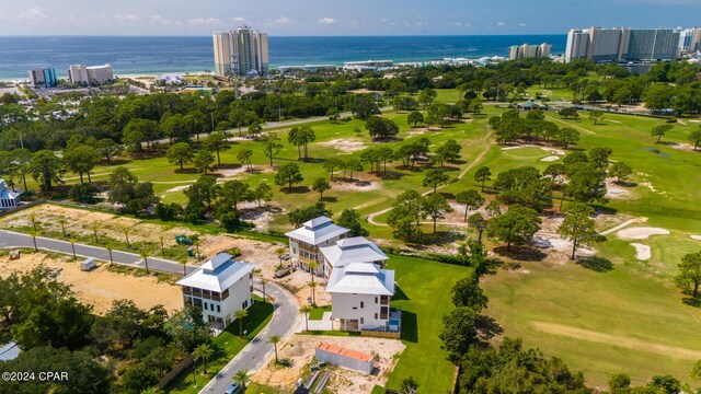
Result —
[[[271, 36], [271, 67], [354, 60], [428, 61], [443, 58], [508, 57], [512, 45], [552, 44], [562, 54], [566, 35], [498, 36]], [[110, 63], [115, 74], [198, 72], [214, 69], [209, 36], [3, 36], [0, 80], [24, 80], [27, 70]]]

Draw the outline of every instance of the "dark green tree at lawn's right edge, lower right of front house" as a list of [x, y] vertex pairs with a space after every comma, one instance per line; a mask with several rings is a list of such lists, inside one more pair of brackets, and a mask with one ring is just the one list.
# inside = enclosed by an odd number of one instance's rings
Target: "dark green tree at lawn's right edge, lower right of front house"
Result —
[[468, 349], [476, 344], [478, 313], [468, 306], [458, 306], [443, 317], [444, 327], [438, 335], [441, 349], [448, 351], [448, 359], [458, 363]]

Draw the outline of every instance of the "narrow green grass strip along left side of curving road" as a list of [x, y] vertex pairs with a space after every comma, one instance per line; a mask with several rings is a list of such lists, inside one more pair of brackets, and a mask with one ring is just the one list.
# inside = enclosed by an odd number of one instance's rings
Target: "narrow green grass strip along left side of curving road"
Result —
[[223, 333], [211, 340], [212, 347], [220, 349], [220, 351], [207, 362], [208, 373], [203, 373], [200, 362], [196, 363], [197, 386], [194, 385], [192, 370], [188, 370], [171, 383], [168, 393], [198, 393], [252, 338], [258, 335], [273, 318], [273, 304], [263, 303], [262, 299], [254, 298], [255, 303], [249, 309], [249, 316], [243, 321], [243, 329], [249, 334], [245, 337], [240, 337], [239, 322], [231, 323]]

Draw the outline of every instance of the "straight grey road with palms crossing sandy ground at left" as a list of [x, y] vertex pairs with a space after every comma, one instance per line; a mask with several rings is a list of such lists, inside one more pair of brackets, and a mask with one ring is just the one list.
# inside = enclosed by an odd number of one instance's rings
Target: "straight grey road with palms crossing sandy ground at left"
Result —
[[[36, 237], [36, 246], [41, 250], [59, 252], [68, 255], [72, 255], [73, 251], [70, 242], [48, 239], [44, 236]], [[91, 246], [84, 244], [74, 244], [76, 255], [81, 257], [94, 257], [104, 262], [110, 262], [110, 251], [104, 247]], [[0, 230], [0, 247], [34, 247], [32, 236], [14, 231]], [[112, 260], [115, 264], [120, 264], [130, 267], [146, 268], [143, 258], [135, 253], [112, 251]], [[183, 265], [158, 257], [149, 257], [149, 269], [159, 270], [171, 274], [183, 274]], [[187, 273], [195, 269], [192, 266], [187, 266]]]

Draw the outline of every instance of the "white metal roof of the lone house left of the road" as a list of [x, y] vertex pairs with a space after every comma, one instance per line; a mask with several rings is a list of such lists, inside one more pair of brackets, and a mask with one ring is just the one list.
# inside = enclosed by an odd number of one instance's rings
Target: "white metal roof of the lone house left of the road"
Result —
[[177, 285], [222, 292], [249, 275], [252, 264], [237, 262], [228, 253], [220, 253], [177, 281]]

